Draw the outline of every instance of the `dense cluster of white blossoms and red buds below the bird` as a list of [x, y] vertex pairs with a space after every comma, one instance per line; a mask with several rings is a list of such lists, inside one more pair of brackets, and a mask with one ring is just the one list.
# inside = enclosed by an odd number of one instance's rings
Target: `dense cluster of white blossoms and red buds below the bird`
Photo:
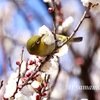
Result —
[[[11, 74], [8, 80], [4, 93], [4, 99], [39, 100], [40, 97], [44, 98], [46, 96], [47, 93], [45, 91], [41, 91], [42, 88], [48, 87], [49, 82], [46, 79], [46, 77], [48, 77], [46, 73], [38, 71], [28, 82], [28, 85], [24, 87], [22, 86], [23, 83], [31, 76], [31, 74], [36, 71], [36, 68], [39, 68], [41, 61], [42, 59], [40, 57], [35, 56], [33, 60], [23, 60], [22, 63], [20, 63], [19, 61], [16, 62], [18, 68], [16, 72]], [[35, 90], [37, 91], [37, 93], [35, 93]], [[41, 96], [38, 94], [38, 91], [41, 91]]]

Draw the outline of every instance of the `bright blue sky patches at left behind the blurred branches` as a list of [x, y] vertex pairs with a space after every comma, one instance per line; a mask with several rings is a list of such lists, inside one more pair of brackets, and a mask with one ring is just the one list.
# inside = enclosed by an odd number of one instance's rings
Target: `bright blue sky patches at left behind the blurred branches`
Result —
[[[0, 10], [4, 9], [4, 5], [7, 1], [8, 0], [0, 0], [0, 8], [2, 8]], [[33, 19], [28, 23], [31, 26], [31, 30], [27, 27], [26, 21], [22, 16], [21, 11], [17, 10], [13, 16], [10, 28], [7, 27], [5, 29], [12, 37], [15, 37], [20, 31], [23, 30], [29, 30], [32, 32], [32, 34], [36, 34], [38, 32], [38, 28], [43, 24], [52, 28], [52, 19], [47, 11], [46, 6], [43, 4], [43, 2], [41, 2], [41, 0], [25, 0], [25, 6], [21, 6], [21, 10], [26, 16], [33, 14]], [[3, 54], [0, 45], [0, 74], [2, 72], [2, 63]]]

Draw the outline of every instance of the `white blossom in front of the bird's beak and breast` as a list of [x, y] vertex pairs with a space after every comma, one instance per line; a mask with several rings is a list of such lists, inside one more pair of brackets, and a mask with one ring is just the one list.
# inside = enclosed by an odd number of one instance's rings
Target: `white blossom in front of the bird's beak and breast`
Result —
[[53, 33], [47, 28], [45, 25], [39, 28], [38, 34], [42, 36], [45, 34], [45, 37], [43, 38], [44, 43], [50, 45], [52, 43], [55, 43], [54, 35]]

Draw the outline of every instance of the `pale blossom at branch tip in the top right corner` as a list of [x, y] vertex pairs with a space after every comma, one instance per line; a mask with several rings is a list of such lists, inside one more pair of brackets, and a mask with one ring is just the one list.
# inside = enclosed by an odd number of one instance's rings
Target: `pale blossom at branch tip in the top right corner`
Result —
[[85, 7], [89, 6], [89, 3], [92, 3], [91, 11], [100, 12], [100, 0], [81, 0]]

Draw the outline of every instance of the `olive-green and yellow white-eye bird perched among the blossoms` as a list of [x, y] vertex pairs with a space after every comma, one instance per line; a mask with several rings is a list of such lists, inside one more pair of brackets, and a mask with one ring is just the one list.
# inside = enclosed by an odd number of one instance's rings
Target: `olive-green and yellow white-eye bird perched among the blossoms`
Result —
[[[49, 55], [55, 49], [55, 43], [50, 45], [44, 42], [44, 39], [47, 38], [47, 35], [43, 34], [42, 36], [32, 36], [27, 41], [27, 50], [32, 55], [45, 57]], [[61, 44], [66, 41], [67, 37], [64, 35], [56, 35], [57, 43]], [[82, 37], [72, 38], [68, 43], [80, 42]]]

